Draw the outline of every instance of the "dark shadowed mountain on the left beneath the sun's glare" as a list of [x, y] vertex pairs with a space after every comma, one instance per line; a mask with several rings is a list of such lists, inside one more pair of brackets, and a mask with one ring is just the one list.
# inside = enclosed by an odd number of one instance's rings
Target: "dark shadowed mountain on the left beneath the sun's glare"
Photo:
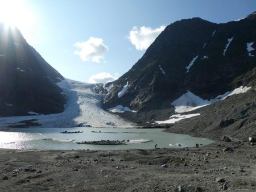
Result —
[[60, 80], [17, 28], [0, 23], [0, 116], [62, 112], [65, 97], [55, 84]]

